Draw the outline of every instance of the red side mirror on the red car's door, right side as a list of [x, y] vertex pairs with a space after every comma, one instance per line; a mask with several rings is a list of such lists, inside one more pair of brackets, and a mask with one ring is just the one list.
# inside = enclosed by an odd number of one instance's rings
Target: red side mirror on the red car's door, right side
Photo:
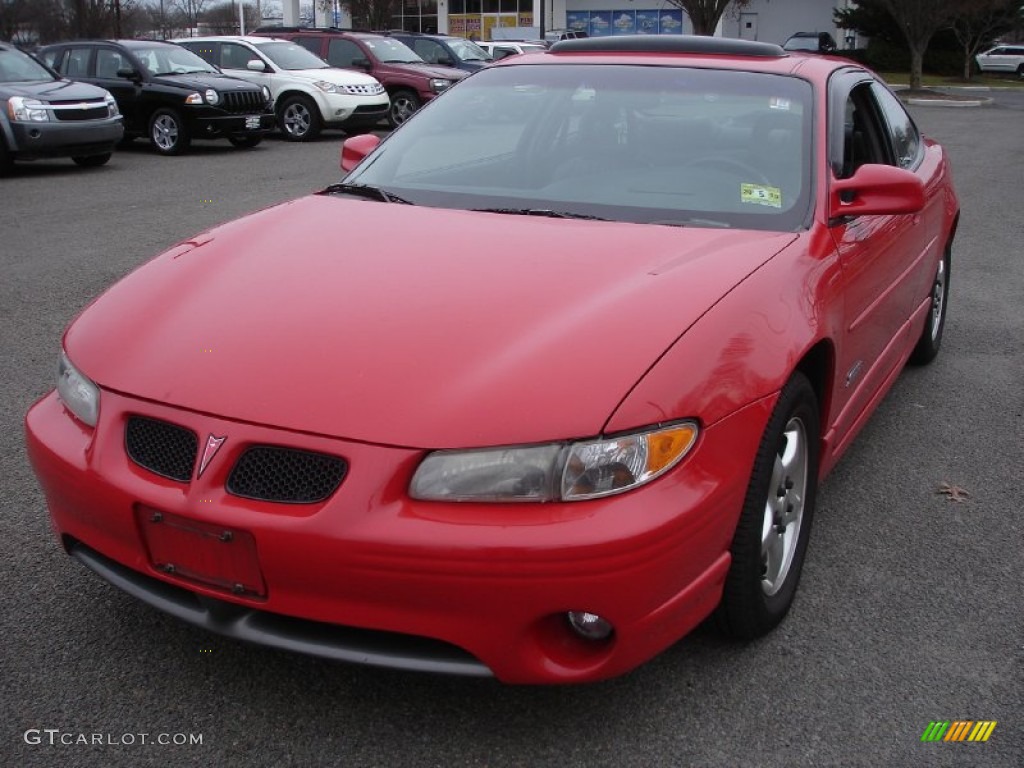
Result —
[[834, 179], [828, 220], [847, 216], [918, 213], [925, 207], [925, 184], [910, 171], [891, 165], [862, 165], [850, 177]]

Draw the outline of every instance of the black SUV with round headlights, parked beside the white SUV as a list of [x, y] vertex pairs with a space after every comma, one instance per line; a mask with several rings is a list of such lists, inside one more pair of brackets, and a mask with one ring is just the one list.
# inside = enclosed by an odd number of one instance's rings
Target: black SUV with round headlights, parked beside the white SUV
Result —
[[180, 45], [86, 40], [48, 45], [36, 55], [67, 78], [113, 93], [126, 138], [148, 136], [162, 155], [187, 151], [194, 138], [255, 146], [274, 125], [266, 88], [223, 75]]

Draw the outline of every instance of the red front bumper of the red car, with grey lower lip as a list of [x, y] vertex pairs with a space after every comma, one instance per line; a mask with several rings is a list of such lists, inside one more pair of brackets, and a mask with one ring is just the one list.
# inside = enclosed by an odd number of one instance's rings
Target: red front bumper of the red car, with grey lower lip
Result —
[[[219, 420], [105, 390], [95, 430], [70, 417], [54, 393], [32, 408], [26, 426], [65, 547], [163, 610], [315, 655], [550, 683], [627, 672], [715, 608], [771, 406], [759, 401], [707, 428], [679, 467], [635, 492], [536, 505], [417, 502], [406, 488], [422, 452]], [[194, 472], [175, 482], [127, 457], [131, 414], [228, 438], [201, 478]], [[240, 499], [224, 485], [252, 443], [341, 456], [349, 473], [318, 504]], [[139, 530], [140, 505], [251, 534], [265, 597], [157, 570]], [[564, 621], [567, 610], [604, 616], [614, 635], [581, 639]]]

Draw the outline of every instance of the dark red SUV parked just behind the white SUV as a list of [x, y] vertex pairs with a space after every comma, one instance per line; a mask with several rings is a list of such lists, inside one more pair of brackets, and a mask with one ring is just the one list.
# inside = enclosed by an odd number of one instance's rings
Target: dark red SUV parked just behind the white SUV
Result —
[[391, 97], [392, 128], [467, 73], [424, 61], [403, 43], [384, 35], [312, 27], [260, 27], [252, 34], [292, 40], [332, 67], [359, 70], [380, 81]]

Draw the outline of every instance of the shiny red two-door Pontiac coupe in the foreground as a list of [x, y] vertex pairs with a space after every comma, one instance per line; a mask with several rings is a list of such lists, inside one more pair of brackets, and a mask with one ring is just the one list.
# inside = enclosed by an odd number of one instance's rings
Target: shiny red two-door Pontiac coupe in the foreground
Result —
[[781, 621], [818, 483], [942, 339], [958, 204], [896, 97], [572, 40], [341, 162], [68, 329], [27, 417], [67, 551], [230, 637], [514, 683]]

